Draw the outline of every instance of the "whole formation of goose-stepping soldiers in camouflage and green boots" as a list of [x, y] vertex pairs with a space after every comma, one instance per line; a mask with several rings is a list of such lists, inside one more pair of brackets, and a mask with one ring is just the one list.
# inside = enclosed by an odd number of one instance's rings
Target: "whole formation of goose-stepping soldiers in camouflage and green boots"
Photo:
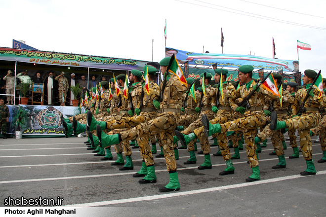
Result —
[[[323, 157], [318, 163], [326, 162], [326, 79], [321, 91], [316, 86], [320, 73], [313, 70], [304, 72], [301, 88], [294, 82], [283, 84], [278, 73], [269, 73], [261, 81], [255, 81], [253, 70], [252, 66], [241, 66], [237, 83], [227, 81], [226, 69], [215, 69], [213, 77], [203, 73], [201, 87], [195, 90], [194, 79], [184, 78], [174, 55], [165, 57], [160, 62], [163, 75], [160, 85], [156, 83], [158, 66], [150, 65], [143, 72], [132, 70], [128, 77], [119, 74], [110, 82], [101, 81], [92, 88], [96, 96], [86, 94], [82, 100], [86, 113], [62, 116], [64, 133], [71, 137], [86, 132], [88, 149], [95, 156], [102, 156], [103, 161], [113, 159], [111, 146], [114, 146], [118, 157], [112, 165], [121, 165], [122, 171], [134, 169], [131, 150], [139, 148], [142, 166], [132, 176], [139, 177], [140, 184], [157, 182], [153, 154], [157, 153], [158, 143], [161, 152], [155, 157], [165, 158], [169, 174], [169, 182], [159, 188], [161, 192], [180, 189], [176, 164], [179, 149], [187, 148], [189, 152], [184, 165], [197, 164], [195, 151], [200, 143], [204, 162], [200, 162], [198, 170], [206, 170], [212, 168], [210, 146], [218, 145], [219, 151], [213, 156], [223, 157], [226, 168], [219, 175], [225, 176], [236, 172], [232, 160], [240, 159], [239, 150], [245, 144], [252, 171], [245, 181], [251, 182], [260, 180], [258, 153], [268, 138], [274, 147], [270, 155], [279, 158], [271, 169], [286, 168], [287, 159], [299, 157], [297, 132], [306, 161], [306, 170], [300, 174], [315, 175], [311, 136], [319, 135]], [[210, 86], [212, 78], [216, 87]], [[266, 79], [273, 82], [270, 88]], [[285, 132], [293, 149], [286, 160]], [[213, 145], [208, 142], [210, 136]], [[234, 147], [233, 156], [228, 140]]]

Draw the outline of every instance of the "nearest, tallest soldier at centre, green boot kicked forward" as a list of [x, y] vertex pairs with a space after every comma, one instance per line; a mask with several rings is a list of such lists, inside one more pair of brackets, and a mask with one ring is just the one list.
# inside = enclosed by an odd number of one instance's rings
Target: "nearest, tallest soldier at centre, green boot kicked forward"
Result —
[[[180, 79], [172, 72], [167, 72], [171, 57], [165, 57], [161, 62], [161, 72], [164, 75], [164, 81], [161, 85], [161, 92], [163, 91], [162, 103], [154, 101], [156, 108], [161, 109], [160, 114], [153, 120], [137, 125], [130, 130], [123, 131], [116, 135], [101, 135], [101, 143], [118, 144], [121, 141], [129, 141], [138, 137], [146, 137], [160, 133], [163, 143], [163, 152], [166, 162], [167, 170], [169, 171], [170, 182], [164, 187], [159, 188], [162, 192], [176, 191], [180, 189], [180, 184], [176, 172], [176, 160], [173, 151], [173, 131], [177, 127], [180, 119], [180, 112], [182, 108], [182, 94], [187, 90], [186, 84], [182, 83]], [[176, 59], [172, 59], [175, 61]], [[172, 62], [171, 61], [171, 62]], [[166, 80], [165, 80], [166, 78]], [[165, 85], [166, 84], [166, 85]], [[165, 86], [165, 89], [163, 89]], [[100, 130], [99, 126], [98, 129]], [[98, 133], [99, 134], [99, 133]]]

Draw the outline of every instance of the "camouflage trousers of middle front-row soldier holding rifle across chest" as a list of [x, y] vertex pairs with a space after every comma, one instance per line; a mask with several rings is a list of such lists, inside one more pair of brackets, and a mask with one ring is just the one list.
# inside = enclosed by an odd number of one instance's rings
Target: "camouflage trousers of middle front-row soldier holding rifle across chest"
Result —
[[223, 139], [223, 143], [226, 143], [226, 132], [227, 131], [244, 131], [244, 141], [246, 143], [245, 149], [247, 151], [247, 156], [249, 159], [250, 167], [256, 167], [259, 165], [257, 155], [256, 155], [256, 147], [254, 143], [254, 137], [256, 136], [256, 132], [258, 127], [264, 125], [266, 120], [263, 118], [265, 114], [263, 112], [248, 112], [246, 111], [245, 116], [242, 118], [238, 118], [236, 120], [221, 124], [221, 133], [225, 134], [224, 136], [219, 136], [219, 138]]

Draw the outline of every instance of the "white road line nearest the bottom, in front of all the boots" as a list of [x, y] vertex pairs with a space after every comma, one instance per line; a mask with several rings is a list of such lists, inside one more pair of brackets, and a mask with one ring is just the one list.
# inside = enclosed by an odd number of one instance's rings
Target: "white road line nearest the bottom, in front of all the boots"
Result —
[[[326, 174], [326, 170], [319, 171], [317, 175], [324, 175], [324, 174]], [[179, 196], [186, 196], [186, 195], [192, 195], [192, 194], [207, 193], [207, 192], [212, 192], [212, 191], [220, 191], [220, 190], [227, 190], [227, 189], [233, 189], [233, 188], [239, 188], [239, 187], [253, 186], [253, 185], [258, 185], [258, 184], [266, 184], [266, 183], [272, 183], [272, 182], [277, 182], [277, 181], [293, 180], [293, 179], [298, 179], [298, 178], [306, 178], [306, 176], [293, 175], [293, 176], [279, 177], [279, 178], [268, 179], [268, 180], [204, 188], [204, 189], [199, 189], [199, 190], [191, 190], [191, 191], [184, 191], [184, 192], [176, 192], [176, 193], [168, 193], [168, 194], [160, 194], [160, 195], [144, 196], [144, 197], [135, 197], [135, 198], [111, 200], [111, 201], [110, 200], [109, 201], [100, 201], [100, 202], [94, 202], [94, 203], [72, 204], [72, 205], [60, 206], [60, 207], [96, 207], [96, 206], [132, 203], [132, 202], [147, 201], [147, 200], [158, 200], [158, 199], [164, 199], [164, 198], [179, 197]]]

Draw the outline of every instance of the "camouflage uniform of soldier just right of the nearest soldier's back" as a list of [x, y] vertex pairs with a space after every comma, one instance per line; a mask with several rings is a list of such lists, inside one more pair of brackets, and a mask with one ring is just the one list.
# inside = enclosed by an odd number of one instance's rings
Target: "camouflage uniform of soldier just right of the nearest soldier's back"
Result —
[[[186, 135], [191, 134], [192, 132], [194, 132], [195, 129], [203, 126], [202, 116], [204, 114], [207, 115], [209, 120], [214, 118], [214, 111], [212, 111], [212, 107], [216, 105], [215, 88], [205, 85], [205, 92], [206, 92], [206, 96], [203, 95], [202, 108], [201, 108], [202, 111], [199, 114], [198, 119], [196, 121], [192, 122], [186, 129], [181, 131], [182, 134], [186, 134]], [[200, 101], [198, 101], [198, 107], [199, 107], [199, 104], [200, 104]], [[204, 129], [204, 127], [203, 127], [203, 129]], [[201, 147], [202, 147], [204, 154], [210, 153], [210, 147], [209, 147], [209, 143], [207, 140], [205, 142], [204, 139], [202, 139]], [[194, 141], [192, 141], [188, 144], [188, 151], [194, 151], [194, 150], [195, 150]]]

